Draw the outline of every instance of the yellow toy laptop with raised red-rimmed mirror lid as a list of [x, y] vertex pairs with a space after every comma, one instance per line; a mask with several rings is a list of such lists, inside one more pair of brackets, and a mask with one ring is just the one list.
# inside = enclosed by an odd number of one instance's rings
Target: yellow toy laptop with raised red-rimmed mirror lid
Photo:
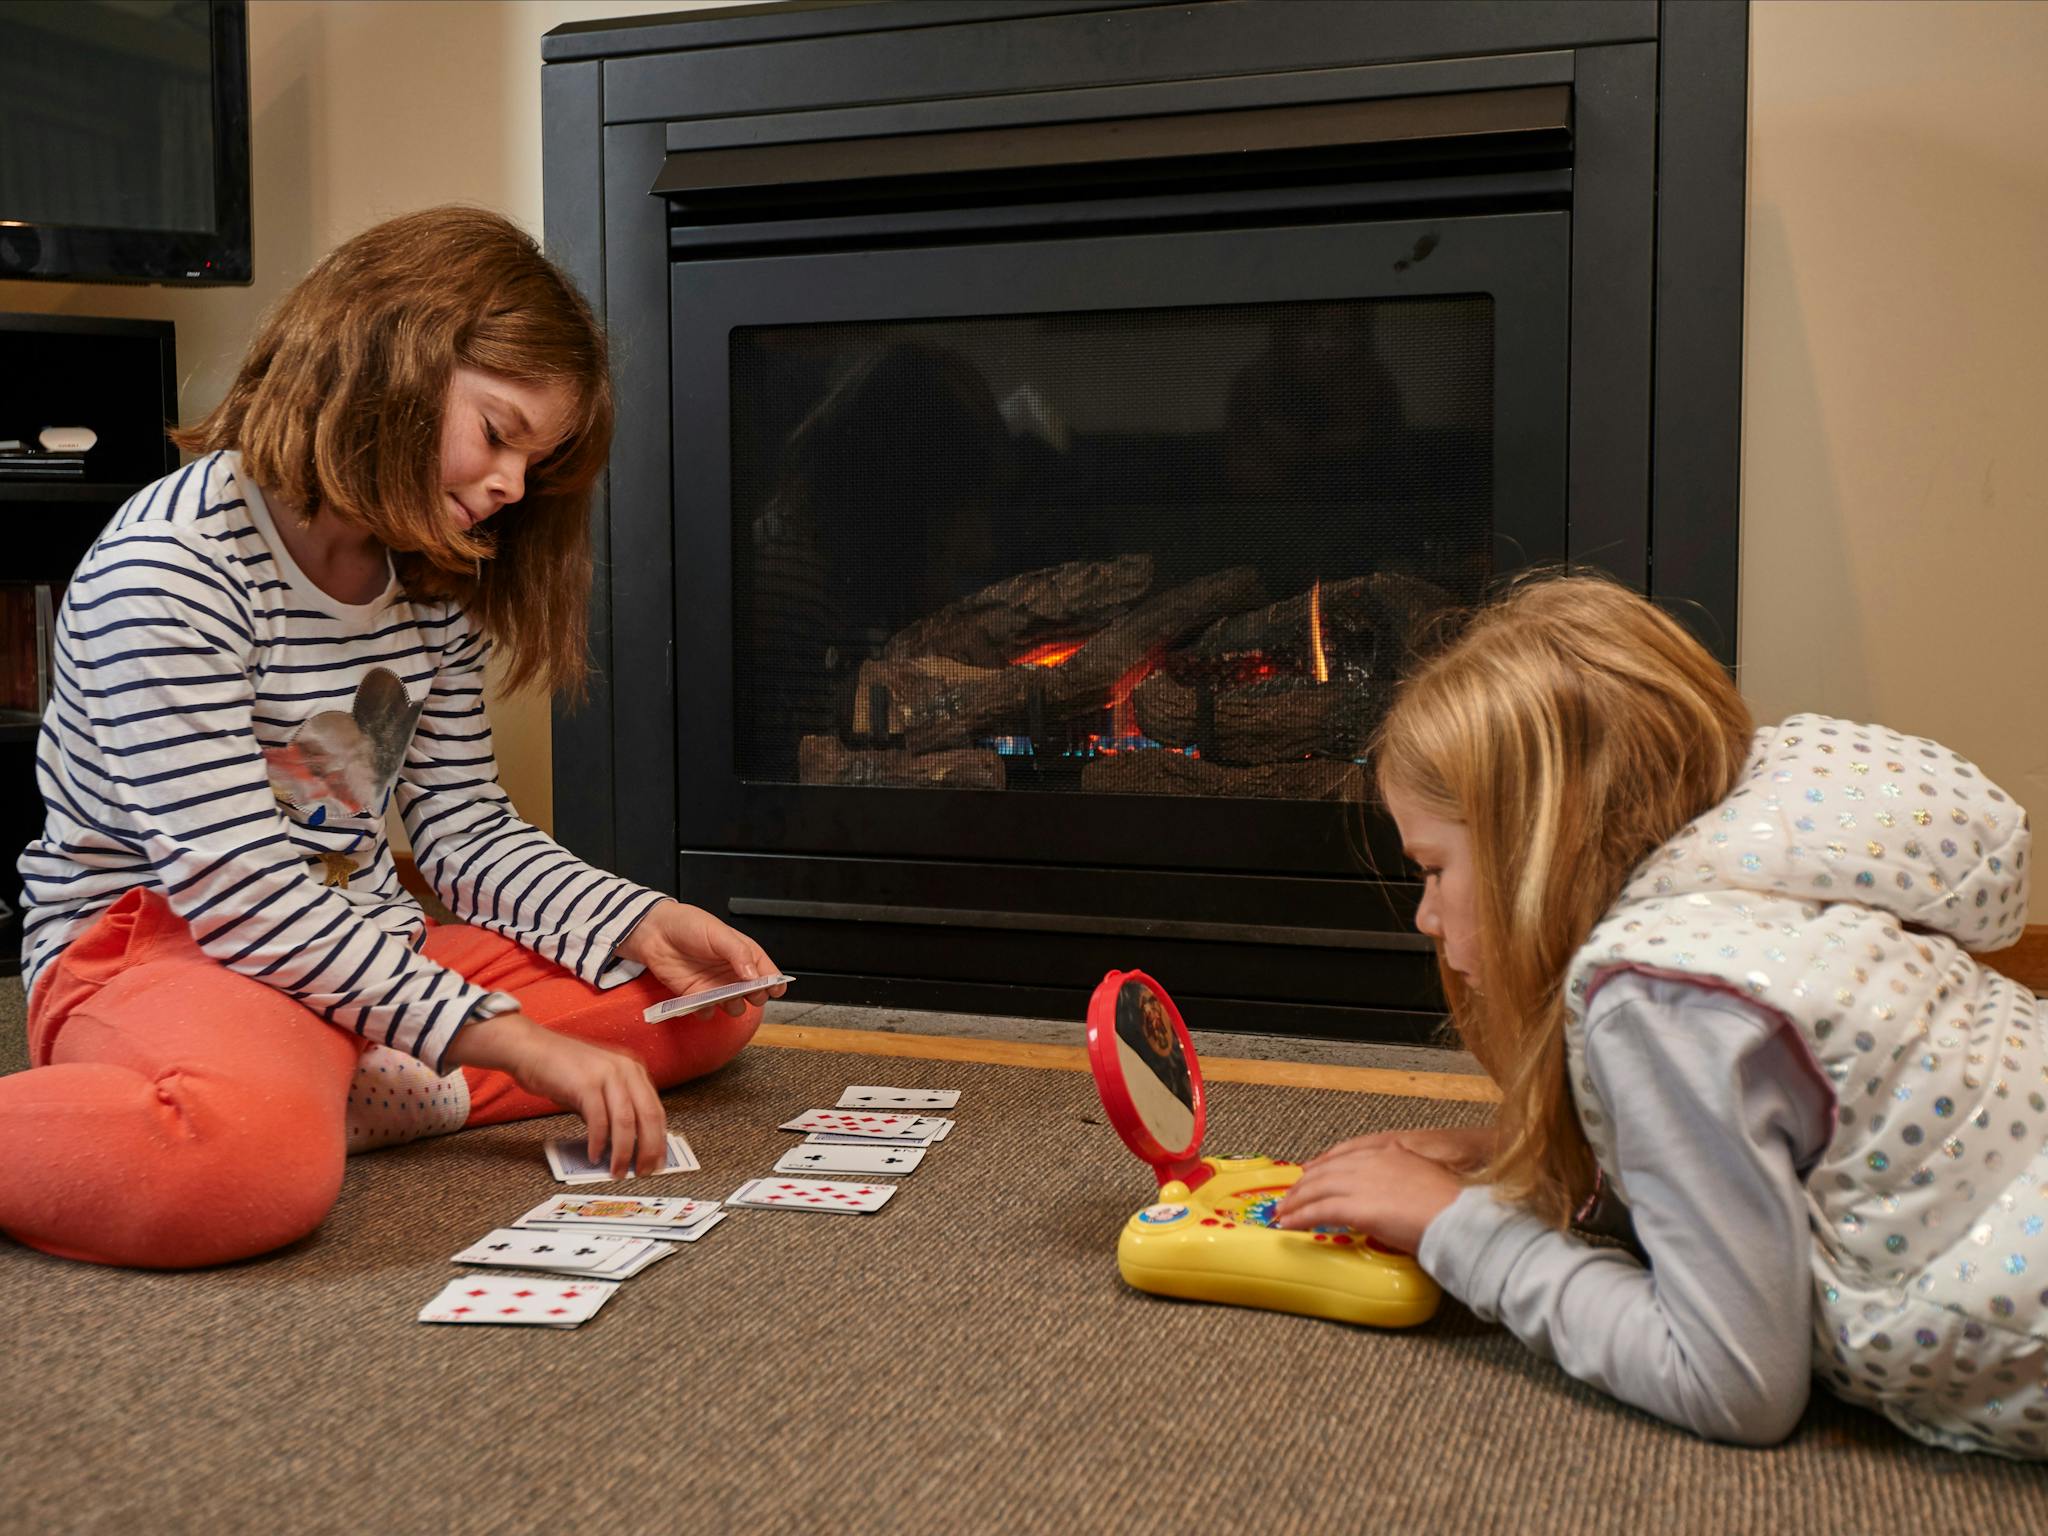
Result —
[[1374, 1327], [1413, 1327], [1436, 1313], [1436, 1282], [1409, 1255], [1348, 1227], [1274, 1227], [1300, 1163], [1200, 1155], [1202, 1065], [1174, 999], [1143, 971], [1110, 971], [1096, 987], [1087, 1065], [1116, 1135], [1159, 1176], [1159, 1200], [1116, 1239], [1128, 1284]]

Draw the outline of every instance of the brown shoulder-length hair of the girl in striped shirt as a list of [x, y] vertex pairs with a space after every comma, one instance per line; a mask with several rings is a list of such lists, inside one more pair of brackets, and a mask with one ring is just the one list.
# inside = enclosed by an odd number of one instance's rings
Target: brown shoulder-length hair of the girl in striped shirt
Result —
[[[524, 498], [467, 532], [440, 494], [457, 367], [565, 385], [573, 401]], [[369, 530], [408, 594], [471, 612], [512, 688], [567, 694], [588, 672], [588, 508], [610, 436], [590, 305], [524, 229], [465, 207], [406, 213], [338, 246], [262, 322], [227, 397], [174, 434], [190, 453], [238, 449], [301, 516]]]

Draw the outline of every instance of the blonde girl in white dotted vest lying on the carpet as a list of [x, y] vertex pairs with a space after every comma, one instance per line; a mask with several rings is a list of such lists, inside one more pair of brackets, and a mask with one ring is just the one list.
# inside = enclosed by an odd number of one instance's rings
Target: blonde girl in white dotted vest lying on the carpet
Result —
[[[2025, 922], [2025, 813], [1921, 737], [1751, 729], [1595, 578], [1481, 610], [1376, 774], [1501, 1108], [1331, 1147], [1280, 1225], [1401, 1245], [1702, 1436], [1782, 1440], [1819, 1376], [1931, 1444], [2048, 1456], [2048, 1049], [1972, 958]], [[1573, 1231], [1595, 1204], [1634, 1249]]]

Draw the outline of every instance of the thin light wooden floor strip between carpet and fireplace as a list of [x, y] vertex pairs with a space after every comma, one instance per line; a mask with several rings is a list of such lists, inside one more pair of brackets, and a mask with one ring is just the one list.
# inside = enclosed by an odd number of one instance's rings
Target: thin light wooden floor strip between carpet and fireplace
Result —
[[[971, 1040], [958, 1034], [895, 1034], [887, 1030], [823, 1030], [805, 1024], [762, 1024], [754, 1034], [754, 1044], [768, 1044], [782, 1051], [844, 1051], [860, 1057], [979, 1061], [995, 1067], [1087, 1071], [1087, 1049], [1079, 1044]], [[1389, 1067], [1327, 1067], [1315, 1061], [1204, 1057], [1202, 1077], [1212, 1083], [1325, 1087], [1341, 1094], [1393, 1094], [1397, 1098], [1436, 1098], [1458, 1104], [1493, 1104], [1499, 1100], [1499, 1092], [1491, 1079], [1456, 1071], [1395, 1071]]]

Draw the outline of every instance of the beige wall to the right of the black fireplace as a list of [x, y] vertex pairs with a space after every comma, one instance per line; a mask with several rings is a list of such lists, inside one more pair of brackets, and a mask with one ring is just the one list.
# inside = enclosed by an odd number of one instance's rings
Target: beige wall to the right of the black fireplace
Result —
[[1749, 66], [1743, 692], [2048, 813], [2048, 4], [1761, 0]]

